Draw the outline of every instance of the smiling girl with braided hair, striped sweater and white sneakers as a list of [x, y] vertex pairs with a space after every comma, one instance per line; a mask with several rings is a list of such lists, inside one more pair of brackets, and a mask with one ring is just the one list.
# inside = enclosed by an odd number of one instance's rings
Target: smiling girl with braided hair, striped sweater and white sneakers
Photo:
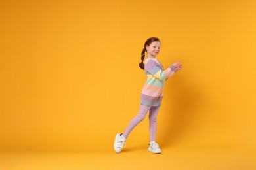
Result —
[[[137, 116], [131, 120], [125, 131], [121, 134], [116, 134], [114, 150], [117, 154], [119, 154], [125, 146], [129, 133], [131, 133], [137, 124], [144, 120], [148, 111], [150, 120], [150, 144], [148, 151], [155, 154], [161, 153], [161, 149], [156, 143], [156, 117], [158, 116], [161, 100], [163, 98], [163, 86], [169, 77], [173, 76], [177, 70], [182, 68], [182, 65], [178, 61], [173, 63], [173, 65], [171, 65], [168, 69], [163, 70], [163, 65], [161, 65], [160, 61], [156, 59], [156, 56], [160, 52], [160, 46], [161, 42], [156, 37], [147, 39], [144, 44], [144, 48], [141, 52], [141, 63], [139, 63], [139, 67], [145, 71], [147, 80], [140, 96], [140, 109]], [[147, 53], [147, 58], [143, 63], [145, 52]]]

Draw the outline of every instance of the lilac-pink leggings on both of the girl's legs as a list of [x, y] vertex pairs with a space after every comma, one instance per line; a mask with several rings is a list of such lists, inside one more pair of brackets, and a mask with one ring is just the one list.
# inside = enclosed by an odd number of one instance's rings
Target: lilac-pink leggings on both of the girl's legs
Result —
[[149, 110], [149, 120], [150, 120], [150, 141], [155, 141], [156, 140], [156, 117], [158, 116], [158, 111], [160, 107], [149, 107], [146, 105], [140, 105], [140, 110], [137, 116], [135, 116], [131, 122], [128, 124], [127, 128], [125, 129], [125, 132], [123, 132], [124, 137], [128, 137], [129, 133], [133, 130], [137, 124], [139, 124], [144, 118], [146, 117], [146, 114], [148, 113]]

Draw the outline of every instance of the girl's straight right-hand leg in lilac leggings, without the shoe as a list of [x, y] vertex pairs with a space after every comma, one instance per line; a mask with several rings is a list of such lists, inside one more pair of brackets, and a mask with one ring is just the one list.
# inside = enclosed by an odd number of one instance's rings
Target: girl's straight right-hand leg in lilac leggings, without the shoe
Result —
[[151, 107], [148, 116], [150, 120], [150, 141], [156, 141], [156, 117], [158, 116], [160, 107]]

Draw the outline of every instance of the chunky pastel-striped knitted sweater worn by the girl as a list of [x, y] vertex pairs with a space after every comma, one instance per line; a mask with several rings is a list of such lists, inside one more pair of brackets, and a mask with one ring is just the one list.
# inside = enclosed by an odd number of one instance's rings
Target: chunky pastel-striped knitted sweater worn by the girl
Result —
[[163, 70], [163, 65], [156, 58], [147, 58], [144, 62], [144, 69], [147, 80], [141, 92], [140, 103], [146, 106], [160, 106], [165, 81], [178, 69], [171, 65]]

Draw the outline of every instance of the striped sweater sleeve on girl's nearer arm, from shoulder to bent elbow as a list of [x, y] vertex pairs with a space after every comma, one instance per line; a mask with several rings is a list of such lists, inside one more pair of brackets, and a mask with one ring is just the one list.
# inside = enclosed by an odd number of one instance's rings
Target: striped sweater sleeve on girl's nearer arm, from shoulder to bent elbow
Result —
[[[160, 69], [160, 67], [159, 67], [158, 63], [156, 63], [156, 61], [153, 61], [153, 60], [148, 61], [148, 63], [146, 63], [146, 65], [145, 65], [145, 70], [148, 71], [148, 73], [150, 73], [150, 75], [158, 78], [161, 81], [165, 81], [167, 78], [165, 75], [165, 71], [162, 71]], [[166, 73], [169, 73], [169, 71], [166, 71]]]

